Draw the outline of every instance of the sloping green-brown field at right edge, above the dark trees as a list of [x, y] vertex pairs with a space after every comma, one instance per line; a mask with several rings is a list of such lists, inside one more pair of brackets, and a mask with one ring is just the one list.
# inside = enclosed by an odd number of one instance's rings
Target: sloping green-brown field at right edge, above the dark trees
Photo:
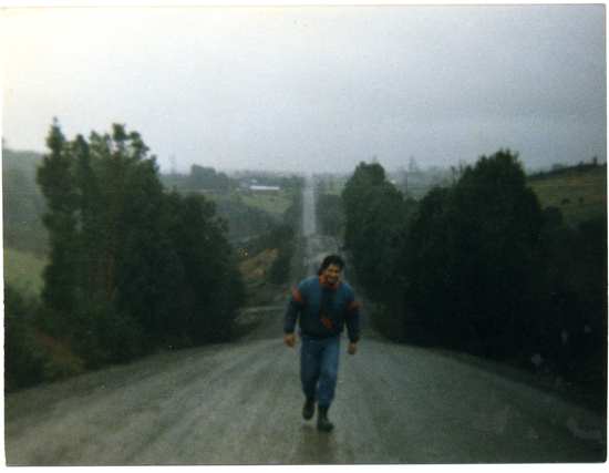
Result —
[[557, 207], [566, 225], [607, 215], [607, 166], [569, 168], [530, 181], [541, 207]]

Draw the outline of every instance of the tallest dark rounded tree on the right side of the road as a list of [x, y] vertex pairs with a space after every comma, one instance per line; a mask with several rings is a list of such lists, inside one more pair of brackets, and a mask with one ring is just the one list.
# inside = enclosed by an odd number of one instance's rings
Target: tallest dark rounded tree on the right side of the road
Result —
[[543, 224], [509, 151], [483, 156], [451, 189], [429, 194], [407, 240], [410, 299], [427, 339], [495, 358], [524, 353], [539, 335]]

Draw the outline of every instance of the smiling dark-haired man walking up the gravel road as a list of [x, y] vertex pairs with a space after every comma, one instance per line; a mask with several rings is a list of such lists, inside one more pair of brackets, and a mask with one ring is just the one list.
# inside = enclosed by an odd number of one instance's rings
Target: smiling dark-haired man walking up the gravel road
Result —
[[304, 393], [302, 417], [312, 419], [318, 404], [317, 428], [329, 432], [328, 409], [337, 387], [340, 337], [347, 326], [349, 354], [355, 354], [360, 339], [360, 316], [353, 289], [340, 280], [344, 261], [340, 256], [327, 256], [319, 276], [306, 279], [293, 291], [283, 318], [286, 343], [293, 347], [295, 327], [299, 318], [300, 380]]

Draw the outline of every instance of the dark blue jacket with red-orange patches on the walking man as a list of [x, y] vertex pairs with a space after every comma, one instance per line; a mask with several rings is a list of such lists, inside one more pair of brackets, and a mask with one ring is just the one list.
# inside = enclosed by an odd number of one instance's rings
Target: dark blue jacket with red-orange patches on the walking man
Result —
[[349, 340], [360, 339], [360, 311], [353, 289], [340, 279], [332, 286], [323, 275], [306, 279], [292, 294], [283, 317], [283, 332], [293, 333], [296, 321], [303, 335], [328, 338], [347, 325]]

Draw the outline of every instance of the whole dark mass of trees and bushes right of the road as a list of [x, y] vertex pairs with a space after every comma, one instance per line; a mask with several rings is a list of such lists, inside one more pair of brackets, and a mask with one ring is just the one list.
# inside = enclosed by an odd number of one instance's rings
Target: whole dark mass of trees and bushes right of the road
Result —
[[[389, 337], [550, 370], [605, 392], [607, 213], [543, 210], [517, 156], [466, 166], [405, 199], [380, 164], [342, 192], [344, 241]], [[334, 204], [332, 204], [334, 206]]]

